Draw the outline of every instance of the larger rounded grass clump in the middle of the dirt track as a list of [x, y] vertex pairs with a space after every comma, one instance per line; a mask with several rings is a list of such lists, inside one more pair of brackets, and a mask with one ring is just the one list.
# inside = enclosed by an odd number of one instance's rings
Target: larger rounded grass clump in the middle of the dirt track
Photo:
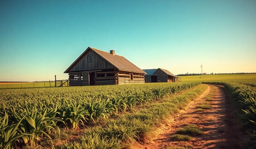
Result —
[[177, 134], [183, 135], [203, 135], [204, 132], [198, 127], [194, 125], [186, 125], [183, 128], [177, 130]]

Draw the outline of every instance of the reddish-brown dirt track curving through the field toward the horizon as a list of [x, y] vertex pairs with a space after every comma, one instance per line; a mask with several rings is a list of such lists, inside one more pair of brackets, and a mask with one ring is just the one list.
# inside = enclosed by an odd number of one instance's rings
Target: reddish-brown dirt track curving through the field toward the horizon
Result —
[[[215, 89], [210, 101], [211, 108], [198, 111], [198, 105], [205, 96]], [[192, 149], [241, 149], [241, 133], [233, 125], [230, 105], [226, 100], [223, 87], [208, 85], [207, 90], [198, 99], [192, 101], [179, 115], [156, 130], [153, 140], [135, 143], [133, 149], [164, 149], [167, 147], [188, 147]], [[171, 119], [171, 118], [170, 118]], [[195, 125], [204, 131], [204, 135], [192, 136], [189, 141], [175, 141], [171, 138], [184, 125]], [[162, 131], [161, 131], [162, 130]], [[163, 131], [164, 130], [164, 131]]]

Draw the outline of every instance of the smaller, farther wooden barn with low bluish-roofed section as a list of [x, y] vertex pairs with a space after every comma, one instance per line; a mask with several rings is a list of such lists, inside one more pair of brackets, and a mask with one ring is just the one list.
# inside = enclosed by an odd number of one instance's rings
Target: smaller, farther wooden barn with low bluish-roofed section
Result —
[[165, 69], [143, 69], [145, 77], [145, 83], [150, 82], [180, 82], [181, 78], [175, 76], [171, 72]]

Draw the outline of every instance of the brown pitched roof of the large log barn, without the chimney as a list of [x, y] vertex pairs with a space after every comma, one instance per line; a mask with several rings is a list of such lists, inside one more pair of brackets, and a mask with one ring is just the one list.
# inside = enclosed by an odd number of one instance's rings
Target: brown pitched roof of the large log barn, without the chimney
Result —
[[106, 61], [108, 61], [109, 63], [111, 63], [116, 69], [118, 70], [122, 70], [122, 71], [128, 71], [128, 72], [138, 72], [138, 73], [143, 73], [145, 74], [145, 72], [140, 69], [139, 67], [137, 67], [136, 65], [134, 65], [133, 63], [131, 63], [129, 60], [127, 60], [125, 57], [122, 57], [120, 55], [116, 55], [116, 54], [110, 54], [108, 52], [105, 51], [101, 51], [99, 49], [95, 49], [92, 47], [88, 47], [77, 59], [76, 61], [74, 61], [69, 68], [64, 72], [64, 73], [68, 73], [70, 71], [70, 69], [76, 64], [76, 62], [78, 62], [80, 60], [81, 57], [83, 57], [88, 50], [93, 50], [94, 52], [96, 52], [97, 54], [99, 54], [99, 56], [101, 56], [103, 59], [105, 59]]

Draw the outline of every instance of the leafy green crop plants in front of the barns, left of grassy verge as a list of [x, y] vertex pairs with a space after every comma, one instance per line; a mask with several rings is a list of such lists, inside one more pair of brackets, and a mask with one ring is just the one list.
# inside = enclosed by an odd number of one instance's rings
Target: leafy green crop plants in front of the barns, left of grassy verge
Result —
[[38, 146], [60, 128], [84, 125], [200, 83], [152, 83], [0, 91], [0, 148]]

